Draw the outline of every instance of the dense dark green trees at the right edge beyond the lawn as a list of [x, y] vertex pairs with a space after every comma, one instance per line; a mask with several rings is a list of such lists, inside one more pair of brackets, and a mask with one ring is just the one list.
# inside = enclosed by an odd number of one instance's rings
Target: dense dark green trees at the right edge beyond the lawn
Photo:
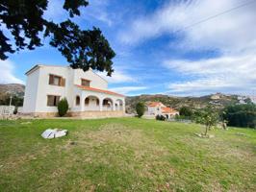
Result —
[[256, 128], [256, 105], [244, 104], [224, 108], [223, 119], [228, 126]]

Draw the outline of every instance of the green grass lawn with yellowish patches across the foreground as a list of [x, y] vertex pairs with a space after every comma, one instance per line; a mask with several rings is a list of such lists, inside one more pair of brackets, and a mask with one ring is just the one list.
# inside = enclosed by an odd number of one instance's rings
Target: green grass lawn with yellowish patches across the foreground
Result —
[[[29, 121], [29, 120], [26, 120]], [[0, 191], [255, 191], [256, 131], [137, 118], [0, 121]], [[69, 131], [47, 140], [47, 128]]]

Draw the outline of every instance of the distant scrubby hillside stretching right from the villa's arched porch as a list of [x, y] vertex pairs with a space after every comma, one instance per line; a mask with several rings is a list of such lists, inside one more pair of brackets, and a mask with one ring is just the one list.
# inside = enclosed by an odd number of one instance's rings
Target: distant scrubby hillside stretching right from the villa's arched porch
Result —
[[126, 98], [126, 108], [127, 112], [133, 112], [136, 104], [138, 102], [149, 102], [158, 101], [162, 102], [164, 105], [170, 108], [181, 108], [183, 106], [188, 106], [191, 108], [204, 108], [207, 105], [213, 105], [216, 108], [224, 108], [227, 105], [237, 104], [237, 95], [225, 95], [221, 93], [206, 95], [202, 97], [175, 97], [169, 95], [140, 95], [131, 96]]

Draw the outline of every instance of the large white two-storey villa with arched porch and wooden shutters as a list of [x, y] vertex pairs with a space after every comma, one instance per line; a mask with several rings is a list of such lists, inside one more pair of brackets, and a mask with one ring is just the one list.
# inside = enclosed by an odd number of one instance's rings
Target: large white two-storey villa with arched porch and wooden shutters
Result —
[[125, 113], [125, 96], [107, 90], [108, 82], [92, 70], [38, 64], [26, 75], [24, 114], [57, 116], [62, 98], [68, 102], [69, 116], [96, 118]]

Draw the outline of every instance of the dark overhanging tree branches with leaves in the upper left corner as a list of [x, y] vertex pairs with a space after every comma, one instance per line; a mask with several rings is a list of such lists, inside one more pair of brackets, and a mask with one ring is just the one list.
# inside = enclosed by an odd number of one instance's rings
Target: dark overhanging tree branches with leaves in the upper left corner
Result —
[[[62, 9], [69, 18], [55, 23], [43, 17], [48, 0], [2, 0], [0, 2], [0, 60], [7, 60], [16, 51], [34, 50], [49, 37], [72, 68], [89, 68], [114, 72], [115, 52], [100, 29], [82, 30], [71, 19], [80, 15], [80, 8], [89, 5], [87, 0], [64, 0]], [[7, 30], [3, 30], [7, 29]], [[10, 34], [9, 34], [10, 32]]]

